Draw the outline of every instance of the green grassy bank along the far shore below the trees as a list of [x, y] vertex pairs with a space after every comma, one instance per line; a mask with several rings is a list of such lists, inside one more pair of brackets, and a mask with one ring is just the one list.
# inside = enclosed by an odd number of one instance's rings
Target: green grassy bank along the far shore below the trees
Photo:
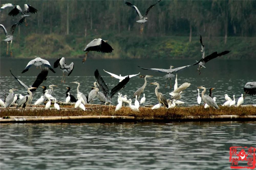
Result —
[[[94, 38], [102, 37], [109, 40], [109, 44], [114, 51], [110, 54], [90, 52], [88, 58], [174, 58], [174, 59], [200, 59], [201, 45], [199, 36], [193, 37], [192, 42], [188, 42], [188, 37], [164, 36], [147, 37], [142, 35], [130, 35], [125, 37], [118, 34], [104, 34], [100, 36], [88, 35], [87, 37], [75, 35], [42, 35], [29, 34], [28, 36], [16, 35], [12, 43], [14, 58], [34, 58], [42, 56], [44, 58], [79, 58], [84, 56], [82, 51], [86, 45]], [[4, 39], [4, 34], [1, 34]], [[256, 45], [255, 37], [228, 37], [227, 44], [224, 44], [223, 37], [203, 37], [206, 55], [214, 51], [232, 50], [225, 56], [226, 59], [254, 59]], [[1, 57], [6, 55], [5, 41], [1, 41]], [[10, 50], [10, 49], [9, 49]]]

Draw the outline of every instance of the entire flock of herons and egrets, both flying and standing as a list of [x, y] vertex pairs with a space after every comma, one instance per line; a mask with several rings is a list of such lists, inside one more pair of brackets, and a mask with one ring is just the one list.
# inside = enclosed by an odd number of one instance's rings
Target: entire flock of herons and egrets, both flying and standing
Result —
[[[131, 4], [131, 3], [127, 2], [127, 1], [125, 1], [125, 5], [133, 7], [136, 10], [138, 16], [140, 17], [140, 20], [138, 20], [137, 22], [141, 23], [141, 30], [140, 30], [141, 33], [143, 31], [143, 23], [145, 23], [147, 21], [146, 19], [148, 19], [146, 16], [147, 16], [149, 10], [154, 5], [159, 3], [160, 1], [161, 0], [159, 0], [155, 4], [151, 5], [146, 10], [144, 16], [141, 15], [140, 11], [138, 10], [138, 8], [136, 6], [134, 6], [133, 4]], [[2, 7], [4, 9], [4, 8], [6, 8], [8, 6], [14, 6], [14, 4], [4, 4]], [[2, 9], [2, 7], [1, 7], [1, 9]], [[6, 39], [4, 41], [7, 42], [7, 52], [6, 52], [7, 54], [8, 54], [8, 42], [12, 43], [13, 32], [14, 32], [14, 29], [16, 28], [16, 26], [17, 25], [21, 25], [24, 21], [26, 22], [26, 17], [29, 16], [29, 15], [27, 15], [28, 13], [35, 14], [36, 12], [37, 12], [37, 9], [35, 9], [34, 7], [32, 7], [32, 6], [28, 5], [28, 4], [24, 5], [24, 10], [22, 10], [19, 5], [16, 5], [16, 6], [14, 6], [14, 8], [10, 11], [10, 13], [8, 15], [15, 16], [15, 15], [18, 15], [19, 13], [21, 13], [22, 14], [22, 19], [20, 19], [17, 23], [15, 23], [11, 27], [9, 33], [7, 33], [5, 27], [2, 24], [0, 24], [0, 26], [4, 29], [4, 32], [5, 32], [5, 35], [6, 35]], [[230, 52], [230, 51], [223, 51], [221, 53], [214, 52], [214, 53], [212, 53], [212, 54], [210, 54], [210, 55], [205, 57], [205, 45], [202, 42], [201, 34], [200, 34], [200, 43], [201, 43], [201, 49], [202, 49], [201, 50], [202, 58], [199, 61], [196, 61], [196, 63], [194, 63], [194, 64], [186, 65], [186, 66], [182, 66], [182, 67], [177, 67], [175, 69], [172, 69], [174, 67], [172, 65], [170, 66], [170, 69], [144, 68], [144, 67], [138, 66], [138, 67], [140, 67], [141, 69], [144, 69], [144, 70], [151, 70], [151, 71], [155, 71], [155, 72], [159, 72], [159, 73], [165, 73], [164, 78], [167, 79], [167, 82], [168, 82], [168, 80], [170, 80], [170, 88], [172, 88], [171, 78], [175, 77], [175, 73], [176, 73], [176, 80], [175, 80], [174, 90], [173, 90], [173, 92], [169, 93], [170, 94], [170, 98], [169, 99], [166, 99], [163, 93], [158, 92], [159, 87], [160, 87], [158, 82], [150, 83], [150, 84], [156, 86], [155, 94], [156, 94], [156, 97], [157, 97], [158, 102], [159, 102], [157, 105], [153, 106], [152, 109], [160, 108], [162, 105], [165, 108], [170, 109], [170, 108], [174, 108], [176, 105], [184, 104], [183, 101], [180, 101], [180, 99], [182, 98], [181, 94], [184, 92], [184, 90], [186, 88], [188, 88], [190, 86], [190, 83], [185, 82], [185, 83], [183, 83], [182, 85], [180, 85], [178, 87], [177, 72], [185, 70], [185, 69], [187, 69], [187, 68], [189, 68], [189, 67], [191, 67], [193, 65], [197, 65], [198, 64], [199, 68], [197, 70], [199, 71], [199, 75], [200, 75], [201, 74], [201, 72], [200, 72], [201, 68], [202, 67], [206, 68], [205, 64], [208, 61], [210, 61], [210, 60], [212, 60], [214, 58], [217, 58], [219, 56], [226, 55], [226, 54], [228, 54]], [[10, 49], [11, 49], [11, 47], [10, 47]], [[98, 51], [98, 52], [102, 52], [102, 53], [110, 53], [110, 52], [113, 51], [113, 48], [107, 43], [106, 40], [102, 40], [101, 38], [98, 38], [98, 39], [94, 39], [89, 44], [87, 44], [86, 48], [83, 51], [86, 52], [86, 54], [85, 54], [85, 57], [84, 57], [82, 62], [86, 61], [87, 54], [90, 51]], [[11, 54], [12, 54], [12, 52], [11, 52]], [[18, 100], [18, 98], [20, 100], [19, 100], [16, 108], [19, 108], [19, 107], [25, 108], [26, 106], [29, 105], [29, 103], [31, 104], [33, 96], [36, 93], [36, 90], [38, 89], [40, 84], [47, 79], [48, 69], [51, 70], [53, 73], [55, 73], [54, 69], [57, 68], [57, 67], [60, 67], [60, 69], [63, 72], [61, 83], [62, 82], [65, 83], [65, 81], [66, 81], [66, 74], [68, 74], [68, 76], [69, 76], [72, 73], [73, 69], [74, 69], [74, 63], [71, 62], [69, 65], [67, 65], [67, 63], [65, 62], [65, 58], [64, 57], [57, 59], [54, 62], [54, 65], [53, 65], [54, 67], [52, 68], [50, 63], [47, 60], [44, 60], [44, 59], [42, 59], [42, 58], [40, 58], [38, 56], [36, 59], [31, 60], [31, 61], [28, 62], [28, 64], [26, 65], [26, 67], [22, 71], [22, 73], [27, 72], [32, 65], [37, 66], [37, 68], [39, 66], [40, 69], [41, 69], [41, 65], [44, 65], [45, 68], [43, 68], [41, 70], [41, 72], [38, 74], [34, 84], [31, 85], [31, 86], [27, 86], [22, 81], [20, 81], [16, 76], [13, 75], [13, 73], [10, 70], [11, 74], [18, 81], [18, 83], [27, 90], [27, 94], [25, 96], [22, 96], [21, 94], [19, 94], [19, 96], [18, 96], [17, 94], [14, 94], [14, 91], [17, 90], [17, 89], [10, 88], [9, 89], [9, 94], [6, 97], [5, 102], [3, 102], [0, 99], [0, 105], [2, 107], [9, 108], [10, 106], [12, 106], [16, 102], [16, 100]], [[96, 69], [95, 72], [94, 72], [94, 76], [95, 76], [95, 80], [96, 81], [93, 83], [93, 86], [91, 87], [90, 93], [87, 96], [84, 95], [83, 93], [81, 93], [79, 91], [80, 82], [79, 81], [72, 82], [72, 83], [76, 83], [77, 84], [77, 99], [71, 94], [70, 87], [67, 87], [68, 90], [66, 92], [66, 101], [65, 101], [65, 103], [68, 104], [69, 102], [74, 102], [75, 103], [75, 106], [74, 106], [75, 108], [80, 108], [82, 110], [86, 110], [85, 105], [87, 103], [90, 103], [90, 102], [93, 103], [93, 99], [97, 97], [102, 102], [102, 104], [105, 104], [105, 105], [109, 104], [109, 106], [110, 106], [111, 103], [112, 103], [113, 96], [116, 93], [118, 93], [119, 94], [118, 95], [118, 105], [116, 106], [115, 111], [120, 110], [122, 108], [122, 106], [123, 106], [123, 103], [125, 104], [125, 106], [126, 106], [126, 104], [129, 104], [129, 107], [132, 110], [139, 111], [139, 107], [143, 107], [143, 104], [146, 101], [146, 97], [145, 97], [145, 93], [144, 93], [144, 89], [145, 89], [146, 84], [147, 84], [146, 78], [152, 77], [152, 76], [146, 75], [144, 77], [144, 84], [143, 84], [143, 86], [138, 88], [134, 92], [134, 94], [131, 97], [131, 99], [127, 99], [127, 95], [123, 96], [122, 94], [119, 93], [119, 91], [122, 88], [125, 87], [125, 85], [129, 82], [131, 77], [137, 76], [140, 73], [133, 74], [133, 75], [127, 75], [127, 76], [121, 76], [121, 74], [120, 74], [118, 76], [116, 74], [107, 72], [105, 70], [104, 70], [104, 72], [106, 72], [106, 73], [110, 74], [111, 76], [119, 79], [119, 83], [110, 90], [108, 85], [105, 83], [105, 81], [101, 77], [98, 69]], [[166, 82], [165, 87], [167, 86], [167, 82]], [[55, 101], [54, 107], [57, 110], [60, 110], [59, 105], [56, 103], [57, 102], [56, 97], [52, 96], [53, 95], [53, 87], [57, 87], [57, 86], [54, 85], [54, 84], [50, 84], [48, 89], [47, 89], [46, 86], [40, 86], [40, 87], [43, 89], [42, 90], [43, 95], [34, 103], [34, 105], [40, 105], [42, 103], [47, 102], [47, 103], [45, 103], [45, 109], [49, 109], [50, 106], [51, 106], [51, 101]], [[209, 95], [205, 95], [205, 92], [206, 92], [206, 87], [205, 86], [200, 86], [200, 87], [197, 87], [197, 88], [198, 88], [198, 97], [197, 97], [198, 105], [200, 105], [201, 100], [203, 100], [204, 103], [205, 103], [205, 106], [204, 106], [205, 108], [212, 107], [212, 108], [215, 108], [215, 109], [219, 109], [219, 107], [218, 107], [218, 105], [216, 103], [216, 97], [212, 97], [212, 90], [214, 88], [210, 88], [209, 89], [209, 92], [210, 92]], [[199, 89], [203, 89], [203, 91], [201, 92], [201, 97], [200, 97], [200, 90]], [[245, 91], [246, 95], [247, 94], [255, 95], [256, 94], [256, 82], [248, 82], [244, 86], [244, 91]], [[143, 94], [143, 97], [141, 98], [141, 100], [139, 102], [140, 96], [142, 94]], [[243, 94], [241, 95], [241, 97], [238, 99], [237, 106], [240, 106], [243, 103], [243, 99], [244, 99], [244, 97], [246, 97], [246, 95], [245, 96], [243, 96]], [[133, 98], [135, 98], [134, 105], [132, 105], [132, 99]], [[234, 106], [236, 104], [234, 96], [233, 96], [234, 100], [232, 100], [226, 94], [225, 95], [225, 99], [226, 99], [226, 102], [222, 106]]]

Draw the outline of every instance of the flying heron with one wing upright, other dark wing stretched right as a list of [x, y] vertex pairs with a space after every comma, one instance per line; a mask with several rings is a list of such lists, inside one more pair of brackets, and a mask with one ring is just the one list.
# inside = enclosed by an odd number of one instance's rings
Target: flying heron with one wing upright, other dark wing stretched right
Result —
[[203, 44], [203, 42], [202, 42], [202, 36], [201, 36], [201, 34], [200, 34], [200, 43], [201, 43], [201, 48], [202, 48], [202, 58], [199, 60], [199, 61], [196, 61], [196, 63], [195, 64], [193, 64], [193, 65], [199, 65], [199, 67], [198, 67], [198, 69], [197, 69], [197, 71], [199, 71], [199, 75], [201, 74], [201, 72], [200, 72], [200, 70], [201, 70], [201, 68], [202, 67], [204, 67], [204, 68], [206, 68], [205, 67], [205, 64], [208, 62], [208, 61], [210, 61], [210, 60], [212, 60], [212, 59], [215, 59], [215, 58], [217, 58], [217, 57], [219, 57], [219, 56], [221, 56], [221, 55], [226, 55], [226, 54], [228, 54], [230, 51], [223, 51], [223, 52], [221, 52], [221, 53], [218, 53], [217, 51], [215, 51], [214, 53], [212, 53], [212, 54], [210, 54], [210, 55], [208, 55], [208, 56], [206, 56], [205, 57], [205, 45]]

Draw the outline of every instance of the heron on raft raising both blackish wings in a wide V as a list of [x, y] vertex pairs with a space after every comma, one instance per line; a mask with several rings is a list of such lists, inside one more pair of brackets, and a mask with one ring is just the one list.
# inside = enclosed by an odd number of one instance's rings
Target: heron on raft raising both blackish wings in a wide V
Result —
[[[98, 71], [98, 69], [95, 70], [94, 72], [94, 76], [99, 84], [99, 88], [102, 89], [103, 94], [106, 98], [106, 103], [109, 103], [109, 106], [111, 104], [111, 100], [112, 97], [114, 96], [115, 93], [117, 93], [119, 90], [121, 90], [130, 80], [129, 76], [127, 76], [123, 81], [119, 82], [115, 87], [113, 87], [111, 89], [111, 91], [109, 92], [109, 87], [106, 85], [106, 83], [104, 82], [103, 78], [100, 76], [100, 73]], [[109, 107], [110, 109], [110, 107]]]

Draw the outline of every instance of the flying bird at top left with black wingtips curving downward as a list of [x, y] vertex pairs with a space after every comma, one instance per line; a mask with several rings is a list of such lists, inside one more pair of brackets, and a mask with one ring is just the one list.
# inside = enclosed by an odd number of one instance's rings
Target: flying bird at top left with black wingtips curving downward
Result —
[[[29, 16], [29, 15], [27, 15], [28, 13], [32, 13], [32, 14], [37, 13], [37, 9], [34, 8], [34, 7], [32, 7], [32, 6], [29, 5], [29, 4], [24, 4], [24, 10], [22, 10], [19, 5], [16, 5], [16, 6], [8, 13], [8, 15], [9, 15], [9, 16], [16, 16], [16, 15], [18, 15], [19, 13], [21, 13], [21, 16], [22, 16], [22, 17], [27, 17], [27, 16]], [[28, 26], [26, 19], [25, 19], [25, 24], [26, 24], [26, 26]]]

